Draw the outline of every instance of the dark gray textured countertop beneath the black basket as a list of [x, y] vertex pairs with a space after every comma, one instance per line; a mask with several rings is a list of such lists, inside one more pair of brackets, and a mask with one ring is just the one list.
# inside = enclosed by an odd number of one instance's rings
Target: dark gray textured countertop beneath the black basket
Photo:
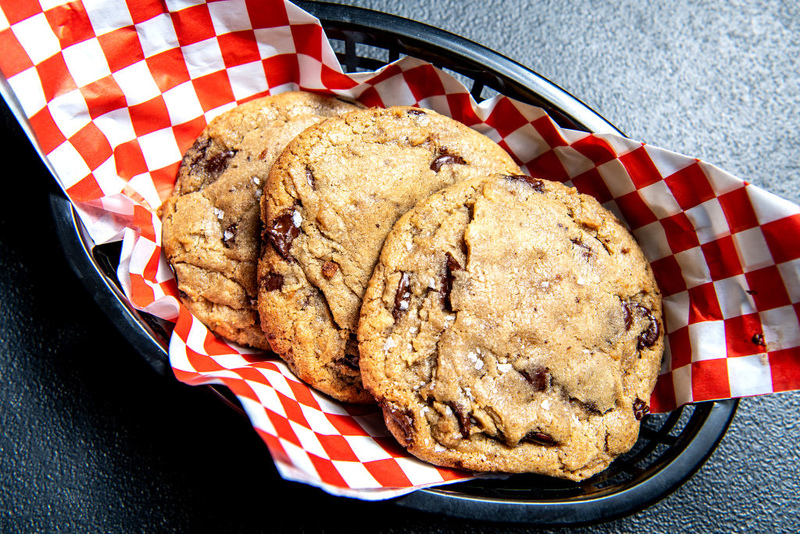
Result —
[[[483, 44], [632, 138], [800, 202], [796, 3], [343, 3]], [[6, 173], [26, 175], [9, 182], [9, 194], [30, 202], [0, 211], [0, 531], [531, 530], [279, 480], [246, 421], [153, 373], [104, 317], [59, 250], [51, 179], [5, 110], [3, 132]], [[577, 531], [797, 532], [798, 413], [800, 393], [744, 399], [684, 486], [636, 515]], [[220, 452], [224, 462], [204, 463]], [[254, 481], [257, 491], [244, 491]], [[294, 506], [300, 511], [287, 513]]]

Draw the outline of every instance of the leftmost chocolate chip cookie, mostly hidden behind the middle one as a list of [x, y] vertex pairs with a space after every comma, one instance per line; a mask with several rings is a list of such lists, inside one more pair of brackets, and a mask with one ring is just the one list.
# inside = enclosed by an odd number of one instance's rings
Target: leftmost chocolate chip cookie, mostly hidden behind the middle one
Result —
[[187, 150], [160, 208], [162, 247], [181, 301], [214, 333], [269, 348], [256, 306], [262, 186], [295, 135], [354, 109], [299, 91], [268, 96], [218, 116]]

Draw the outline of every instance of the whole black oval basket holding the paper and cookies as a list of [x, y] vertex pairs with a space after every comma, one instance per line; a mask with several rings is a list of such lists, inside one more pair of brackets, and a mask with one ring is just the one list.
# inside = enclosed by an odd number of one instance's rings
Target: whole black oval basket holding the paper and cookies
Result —
[[[553, 83], [456, 35], [361, 8], [296, 4], [321, 21], [350, 72], [374, 70], [409, 55], [454, 74], [478, 101], [500, 93], [544, 108], [566, 128], [620, 133]], [[116, 278], [120, 245], [95, 246], [69, 201], [60, 193], [51, 199], [72, 268], [142, 357], [159, 373], [171, 376], [169, 328], [134, 310], [121, 291]], [[240, 410], [227, 391], [214, 391]], [[662, 499], [691, 477], [724, 436], [737, 405], [736, 400], [709, 402], [646, 416], [634, 448], [582, 483], [514, 475], [424, 489], [397, 503], [464, 518], [539, 525], [576, 525], [625, 516]]]

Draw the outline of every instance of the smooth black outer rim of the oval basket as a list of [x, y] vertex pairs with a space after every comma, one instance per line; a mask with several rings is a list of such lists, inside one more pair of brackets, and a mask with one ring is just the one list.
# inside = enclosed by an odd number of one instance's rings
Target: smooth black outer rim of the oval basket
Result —
[[[580, 129], [594, 133], [624, 135], [586, 104], [543, 76], [480, 44], [433, 26], [365, 8], [328, 2], [296, 1], [295, 4], [317, 17], [323, 28], [347, 30], [353, 35], [379, 32], [396, 38], [408, 49], [433, 51], [451, 60], [480, 65], [512, 94], [512, 98], [533, 93], [548, 112], [555, 111]], [[361, 33], [359, 33], [361, 32]], [[420, 59], [425, 59], [424, 57]], [[21, 121], [22, 122], [22, 121]], [[162, 376], [174, 379], [169, 365], [167, 344], [153, 325], [127, 301], [117, 281], [112, 279], [95, 254], [96, 247], [64, 193], [51, 191], [51, 211], [59, 240], [71, 268], [78, 274], [95, 302], [131, 345]], [[211, 388], [223, 402], [239, 413], [241, 409], [226, 396]], [[738, 407], [738, 399], [701, 403], [702, 421], [669, 462], [648, 476], [620, 491], [598, 492], [594, 497], [561, 500], [510, 500], [476, 497], [457, 490], [458, 485], [418, 490], [395, 499], [400, 506], [444, 515], [492, 522], [537, 525], [580, 525], [609, 521], [640, 511], [663, 499], [686, 482], [713, 454], [724, 437]]]

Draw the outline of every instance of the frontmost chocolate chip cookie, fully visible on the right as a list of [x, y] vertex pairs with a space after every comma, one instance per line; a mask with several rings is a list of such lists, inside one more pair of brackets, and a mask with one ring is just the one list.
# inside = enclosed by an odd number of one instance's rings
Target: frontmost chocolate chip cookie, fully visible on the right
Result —
[[471, 180], [386, 238], [361, 309], [363, 383], [423, 460], [583, 480], [637, 439], [661, 321], [648, 262], [596, 200]]

